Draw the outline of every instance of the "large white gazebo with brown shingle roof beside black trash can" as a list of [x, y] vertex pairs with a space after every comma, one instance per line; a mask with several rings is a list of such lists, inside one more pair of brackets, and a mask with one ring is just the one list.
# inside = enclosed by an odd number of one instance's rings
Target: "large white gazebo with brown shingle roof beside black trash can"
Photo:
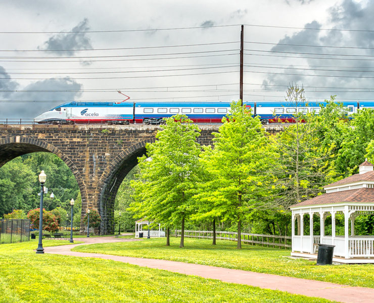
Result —
[[[335, 245], [334, 262], [374, 263], [374, 235], [355, 235], [360, 215], [374, 214], [374, 171], [367, 161], [359, 173], [324, 187], [326, 193], [291, 207], [292, 256], [317, 258], [319, 243]], [[336, 215], [344, 215], [344, 235], [336, 235]], [[313, 216], [319, 217], [319, 234], [313, 234]], [[331, 216], [331, 235], [325, 234], [325, 220]], [[309, 220], [304, 230], [304, 219]], [[308, 218], [309, 217], [309, 218]]]

